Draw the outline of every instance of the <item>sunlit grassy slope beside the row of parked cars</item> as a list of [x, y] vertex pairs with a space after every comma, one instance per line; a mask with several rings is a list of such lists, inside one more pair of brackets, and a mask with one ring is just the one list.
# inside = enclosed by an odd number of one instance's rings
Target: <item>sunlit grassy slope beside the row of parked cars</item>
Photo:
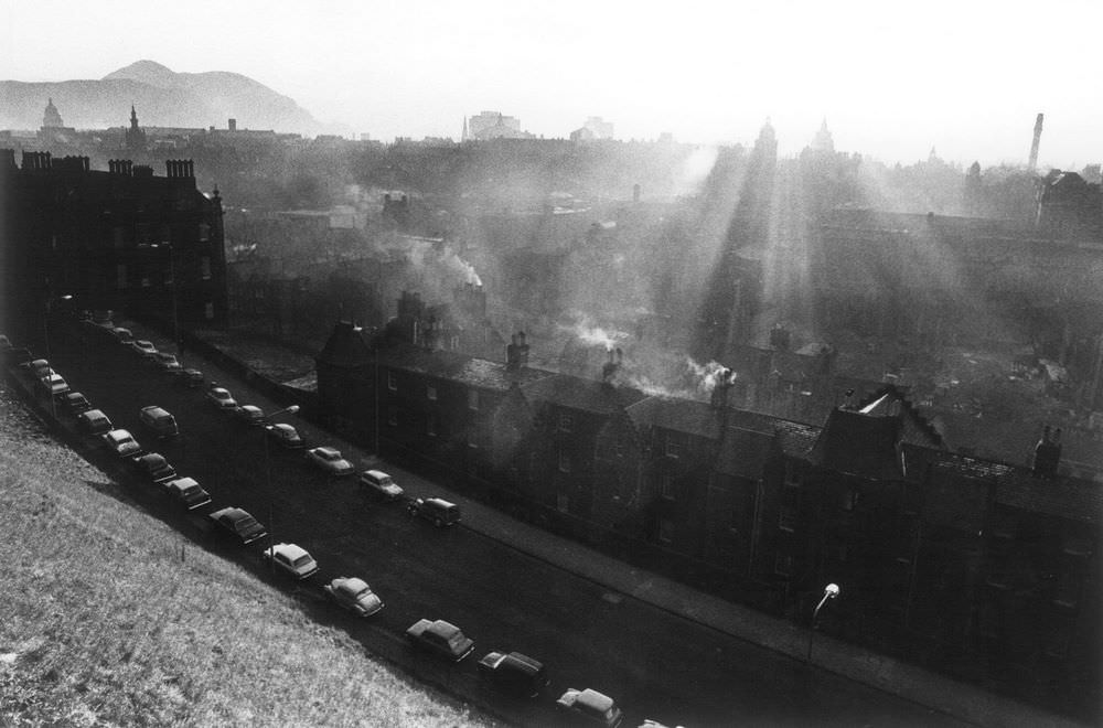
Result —
[[489, 722], [125, 501], [0, 385], [0, 725]]

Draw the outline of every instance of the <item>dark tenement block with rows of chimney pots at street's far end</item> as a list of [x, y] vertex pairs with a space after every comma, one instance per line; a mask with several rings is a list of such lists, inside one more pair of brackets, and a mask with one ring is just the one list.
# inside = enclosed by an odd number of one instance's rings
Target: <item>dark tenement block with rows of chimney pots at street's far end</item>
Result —
[[33, 325], [60, 300], [181, 326], [226, 318], [222, 201], [195, 186], [191, 161], [165, 175], [113, 160], [0, 150], [2, 268], [10, 321]]

